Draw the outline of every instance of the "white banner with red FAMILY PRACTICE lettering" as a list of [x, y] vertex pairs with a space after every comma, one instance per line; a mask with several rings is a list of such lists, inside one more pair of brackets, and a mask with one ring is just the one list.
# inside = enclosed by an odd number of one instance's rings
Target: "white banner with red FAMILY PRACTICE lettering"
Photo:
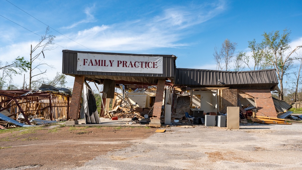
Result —
[[162, 57], [78, 53], [78, 71], [162, 74]]

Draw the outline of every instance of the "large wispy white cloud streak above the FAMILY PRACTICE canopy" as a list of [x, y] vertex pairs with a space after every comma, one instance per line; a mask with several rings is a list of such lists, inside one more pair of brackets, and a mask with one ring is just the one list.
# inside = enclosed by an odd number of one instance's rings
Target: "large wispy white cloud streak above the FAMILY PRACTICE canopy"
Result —
[[[150, 19], [138, 18], [112, 25], [95, 26], [70, 34], [69, 37], [95, 51], [184, 47], [189, 44], [178, 41], [190, 33], [190, 28], [223, 12], [224, 5], [223, 2], [218, 2], [199, 6], [174, 6]], [[68, 39], [62, 39], [61, 43], [68, 49], [82, 49], [82, 46]]]

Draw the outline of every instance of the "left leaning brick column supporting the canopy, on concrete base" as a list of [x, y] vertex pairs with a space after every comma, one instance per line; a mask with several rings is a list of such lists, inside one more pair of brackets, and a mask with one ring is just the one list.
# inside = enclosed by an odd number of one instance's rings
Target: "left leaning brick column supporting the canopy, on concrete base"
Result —
[[85, 76], [76, 75], [70, 102], [69, 117], [78, 120]]

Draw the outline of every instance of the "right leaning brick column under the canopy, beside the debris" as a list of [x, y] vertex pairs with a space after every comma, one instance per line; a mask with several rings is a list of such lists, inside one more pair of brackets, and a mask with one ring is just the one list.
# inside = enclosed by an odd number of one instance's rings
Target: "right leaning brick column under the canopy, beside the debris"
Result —
[[157, 119], [160, 119], [160, 115], [162, 112], [162, 99], [164, 98], [165, 91], [165, 79], [158, 80], [157, 88], [156, 88], [156, 96], [153, 107], [153, 116], [156, 116]]

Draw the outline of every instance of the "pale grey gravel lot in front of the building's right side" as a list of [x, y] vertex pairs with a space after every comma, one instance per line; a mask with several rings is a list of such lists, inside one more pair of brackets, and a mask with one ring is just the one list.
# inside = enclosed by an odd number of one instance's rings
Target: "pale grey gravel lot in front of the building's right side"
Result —
[[[164, 129], [164, 128], [162, 128]], [[74, 169], [301, 169], [302, 124], [167, 127]]]

